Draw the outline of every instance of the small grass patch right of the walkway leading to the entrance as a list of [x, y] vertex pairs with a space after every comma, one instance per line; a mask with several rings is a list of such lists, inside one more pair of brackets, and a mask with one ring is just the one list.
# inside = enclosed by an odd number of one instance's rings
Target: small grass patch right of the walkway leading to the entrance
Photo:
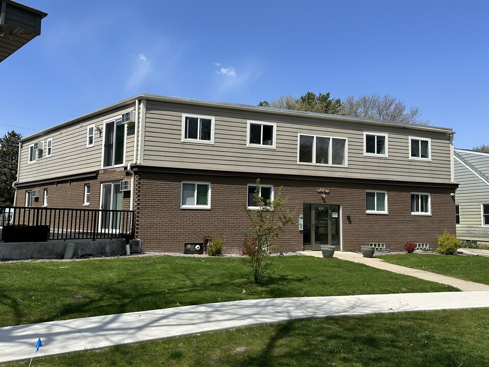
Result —
[[384, 255], [388, 263], [489, 285], [489, 257], [464, 255]]

